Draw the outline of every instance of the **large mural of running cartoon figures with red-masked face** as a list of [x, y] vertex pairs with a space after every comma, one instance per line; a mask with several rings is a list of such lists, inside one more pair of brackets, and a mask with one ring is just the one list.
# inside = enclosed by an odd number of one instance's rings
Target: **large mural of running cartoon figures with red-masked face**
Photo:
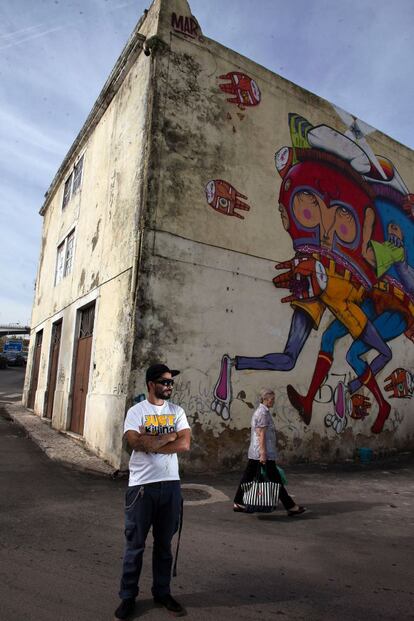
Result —
[[[282, 303], [292, 307], [290, 331], [283, 352], [223, 356], [214, 411], [221, 402], [229, 412], [231, 389], [226, 389], [225, 399], [222, 395], [223, 387], [231, 386], [233, 367], [293, 369], [328, 310], [334, 319], [321, 336], [308, 391], [300, 394], [288, 385], [291, 405], [309, 425], [316, 395], [334, 361], [335, 345], [350, 335], [353, 342], [344, 362], [353, 377], [336, 387], [334, 412], [325, 424], [340, 433], [347, 417], [363, 419], [373, 411], [371, 431], [377, 434], [390, 415], [391, 405], [376, 377], [392, 359], [393, 339], [405, 334], [414, 341], [414, 201], [392, 162], [369, 147], [368, 126], [344, 115], [348, 130], [342, 134], [289, 114], [291, 146], [279, 149], [275, 164], [282, 179], [280, 217], [294, 256], [276, 265], [281, 273], [273, 284], [288, 290]], [[370, 362], [368, 352], [374, 352]], [[391, 396], [411, 396], [410, 372], [396, 369], [386, 382]], [[358, 393], [361, 388], [370, 397]]]

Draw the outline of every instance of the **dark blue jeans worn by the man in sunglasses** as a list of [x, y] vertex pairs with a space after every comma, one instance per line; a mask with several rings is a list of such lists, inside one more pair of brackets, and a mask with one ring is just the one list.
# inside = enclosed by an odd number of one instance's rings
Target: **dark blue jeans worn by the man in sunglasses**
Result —
[[119, 597], [138, 595], [145, 540], [152, 526], [152, 594], [170, 592], [173, 556], [171, 540], [177, 532], [181, 509], [180, 481], [160, 481], [128, 487], [125, 498], [126, 548]]

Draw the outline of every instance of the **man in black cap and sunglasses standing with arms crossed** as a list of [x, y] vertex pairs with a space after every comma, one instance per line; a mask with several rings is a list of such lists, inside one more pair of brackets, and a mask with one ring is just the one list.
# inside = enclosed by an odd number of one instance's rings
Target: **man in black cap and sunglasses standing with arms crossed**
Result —
[[190, 449], [190, 427], [184, 410], [169, 402], [179, 371], [165, 364], [147, 369], [148, 399], [127, 412], [124, 435], [131, 447], [125, 502], [126, 548], [116, 619], [127, 619], [135, 607], [145, 540], [152, 526], [154, 602], [175, 616], [184, 608], [171, 596], [171, 540], [177, 532], [181, 488], [177, 453]]

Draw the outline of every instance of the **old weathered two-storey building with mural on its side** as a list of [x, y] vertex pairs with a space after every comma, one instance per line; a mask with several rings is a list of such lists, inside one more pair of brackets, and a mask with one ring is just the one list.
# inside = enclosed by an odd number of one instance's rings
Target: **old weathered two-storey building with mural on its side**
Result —
[[25, 404], [122, 468], [166, 360], [188, 470], [241, 463], [263, 386], [285, 461], [411, 449], [413, 165], [155, 0], [41, 209]]

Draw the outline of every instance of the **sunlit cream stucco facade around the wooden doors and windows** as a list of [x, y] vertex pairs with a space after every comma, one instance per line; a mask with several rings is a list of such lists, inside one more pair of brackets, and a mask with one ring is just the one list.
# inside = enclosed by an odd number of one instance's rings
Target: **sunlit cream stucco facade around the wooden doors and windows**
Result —
[[[151, 27], [151, 20], [145, 28]], [[154, 25], [152, 26], [154, 27]], [[72, 161], [44, 209], [43, 242], [32, 313], [32, 375], [35, 332], [43, 344], [35, 412], [45, 414], [52, 324], [63, 319], [52, 424], [69, 429], [78, 310], [95, 301], [95, 323], [84, 439], [119, 466], [131, 358], [135, 267], [147, 144], [150, 62], [141, 53], [118, 92]], [[64, 182], [84, 154], [80, 189], [62, 209]], [[75, 229], [71, 272], [55, 283], [57, 247]]]

